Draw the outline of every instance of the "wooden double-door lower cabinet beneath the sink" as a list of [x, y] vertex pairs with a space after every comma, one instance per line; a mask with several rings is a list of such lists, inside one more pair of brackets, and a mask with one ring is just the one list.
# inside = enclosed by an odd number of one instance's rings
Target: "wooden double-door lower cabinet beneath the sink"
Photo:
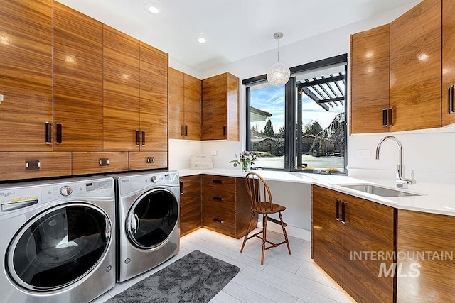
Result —
[[394, 302], [395, 216], [390, 206], [312, 187], [312, 258], [358, 302]]

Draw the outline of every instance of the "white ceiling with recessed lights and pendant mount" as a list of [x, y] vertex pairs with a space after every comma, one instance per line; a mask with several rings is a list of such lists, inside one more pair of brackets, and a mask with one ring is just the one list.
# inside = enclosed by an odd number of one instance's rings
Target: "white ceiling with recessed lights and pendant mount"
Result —
[[[416, 0], [58, 0], [198, 72], [331, 31]], [[147, 1], [164, 8], [144, 10]], [[204, 35], [208, 43], [196, 43]], [[320, 47], [320, 45], [314, 45]]]

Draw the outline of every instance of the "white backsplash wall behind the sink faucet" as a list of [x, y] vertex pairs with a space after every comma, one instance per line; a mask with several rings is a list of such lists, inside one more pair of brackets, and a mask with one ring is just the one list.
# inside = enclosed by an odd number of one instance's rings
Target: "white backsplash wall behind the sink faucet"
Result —
[[[395, 136], [401, 141], [405, 177], [410, 177], [410, 170], [414, 170], [417, 182], [455, 183], [454, 128], [348, 136], [350, 177], [395, 178], [399, 160], [397, 143], [383, 143], [380, 160], [375, 160], [376, 145], [384, 136]], [[358, 150], [368, 150], [370, 157], [359, 158]]]

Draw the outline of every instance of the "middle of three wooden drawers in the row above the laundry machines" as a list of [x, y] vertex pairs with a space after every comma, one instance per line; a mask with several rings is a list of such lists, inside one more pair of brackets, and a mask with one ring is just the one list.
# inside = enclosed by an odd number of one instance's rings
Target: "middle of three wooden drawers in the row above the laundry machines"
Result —
[[128, 170], [127, 152], [73, 152], [73, 175]]

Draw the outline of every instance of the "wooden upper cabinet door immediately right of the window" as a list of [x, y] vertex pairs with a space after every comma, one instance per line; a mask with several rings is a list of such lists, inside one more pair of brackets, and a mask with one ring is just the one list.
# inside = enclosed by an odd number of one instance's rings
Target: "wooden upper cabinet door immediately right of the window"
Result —
[[389, 30], [387, 24], [350, 36], [350, 133], [388, 131]]

